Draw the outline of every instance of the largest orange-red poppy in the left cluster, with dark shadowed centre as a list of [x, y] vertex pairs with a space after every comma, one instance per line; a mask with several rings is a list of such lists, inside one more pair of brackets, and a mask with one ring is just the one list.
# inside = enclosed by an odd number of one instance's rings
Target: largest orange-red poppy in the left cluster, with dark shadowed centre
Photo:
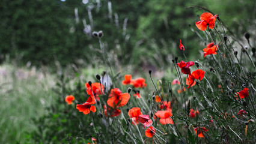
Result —
[[127, 104], [129, 98], [130, 95], [128, 93], [122, 94], [120, 89], [114, 88], [111, 89], [107, 103], [112, 108], [121, 107]]

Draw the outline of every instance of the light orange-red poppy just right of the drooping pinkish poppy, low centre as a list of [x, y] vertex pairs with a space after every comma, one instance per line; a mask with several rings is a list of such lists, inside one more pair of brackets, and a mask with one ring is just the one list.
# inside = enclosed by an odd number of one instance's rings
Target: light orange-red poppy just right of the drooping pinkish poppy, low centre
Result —
[[158, 118], [160, 118], [159, 122], [163, 125], [165, 125], [165, 124], [174, 124], [174, 122], [170, 118], [170, 116], [172, 116], [171, 112], [172, 112], [171, 109], [162, 110], [162, 111], [157, 111], [156, 113], [154, 113], [154, 115], [156, 115]]

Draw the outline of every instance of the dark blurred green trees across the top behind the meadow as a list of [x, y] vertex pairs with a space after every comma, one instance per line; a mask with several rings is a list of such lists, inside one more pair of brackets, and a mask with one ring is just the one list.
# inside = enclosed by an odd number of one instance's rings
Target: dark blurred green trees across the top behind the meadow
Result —
[[121, 65], [163, 67], [173, 55], [183, 56], [177, 53], [180, 39], [195, 60], [203, 46], [189, 24], [195, 29], [206, 11], [195, 5], [219, 14], [234, 34], [243, 35], [255, 23], [255, 1], [3, 0], [0, 58], [10, 56], [21, 65], [95, 65], [102, 55], [91, 32], [102, 30], [106, 49]]

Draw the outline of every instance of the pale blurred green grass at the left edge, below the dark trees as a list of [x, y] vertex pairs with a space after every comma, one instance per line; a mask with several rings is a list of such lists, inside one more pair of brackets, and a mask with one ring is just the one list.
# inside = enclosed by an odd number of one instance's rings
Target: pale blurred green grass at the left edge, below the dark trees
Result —
[[56, 95], [54, 76], [35, 68], [0, 65], [0, 143], [23, 143], [35, 130], [32, 118], [46, 113]]

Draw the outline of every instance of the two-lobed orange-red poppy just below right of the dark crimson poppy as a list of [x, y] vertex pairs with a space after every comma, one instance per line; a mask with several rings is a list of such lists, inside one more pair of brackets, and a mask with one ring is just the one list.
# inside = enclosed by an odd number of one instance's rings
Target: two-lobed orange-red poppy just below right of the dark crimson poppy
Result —
[[204, 78], [204, 73], [205, 71], [200, 69], [193, 71], [186, 79], [186, 85], [188, 85], [187, 88], [195, 85], [195, 79], [202, 80]]

